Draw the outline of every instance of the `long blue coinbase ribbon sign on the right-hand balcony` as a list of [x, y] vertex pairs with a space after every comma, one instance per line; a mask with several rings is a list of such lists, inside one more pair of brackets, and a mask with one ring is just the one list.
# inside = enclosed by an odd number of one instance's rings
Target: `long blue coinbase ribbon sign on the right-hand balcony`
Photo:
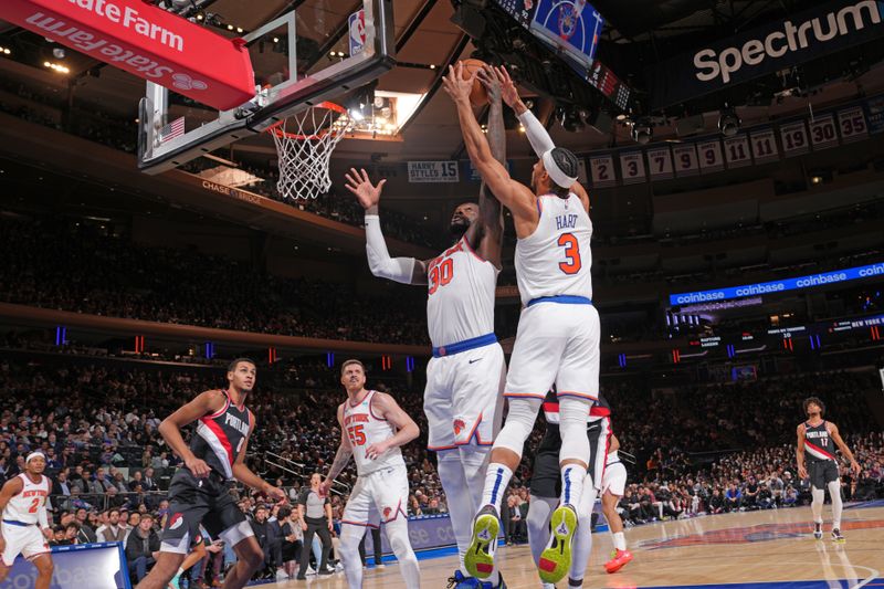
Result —
[[692, 303], [708, 303], [711, 301], [727, 301], [729, 298], [741, 298], [744, 296], [782, 293], [786, 291], [825, 286], [828, 284], [835, 284], [839, 282], [871, 278], [874, 276], [884, 277], [884, 262], [870, 264], [867, 266], [836, 270], [834, 272], [823, 272], [822, 274], [810, 274], [807, 276], [799, 276], [797, 278], [744, 284], [743, 286], [715, 288], [713, 291], [673, 294], [670, 295], [670, 305], [688, 305]]

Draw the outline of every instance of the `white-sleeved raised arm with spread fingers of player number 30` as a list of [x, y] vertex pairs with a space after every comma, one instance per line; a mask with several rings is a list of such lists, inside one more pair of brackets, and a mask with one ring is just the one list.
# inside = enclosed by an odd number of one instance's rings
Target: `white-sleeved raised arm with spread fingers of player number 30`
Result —
[[379, 278], [388, 278], [402, 284], [427, 284], [427, 264], [414, 257], [390, 257], [387, 241], [380, 230], [378, 203], [387, 179], [382, 178], [377, 186], [371, 183], [365, 169], [356, 171], [350, 168], [347, 178], [347, 190], [356, 194], [359, 204], [366, 210], [366, 253], [368, 267]]

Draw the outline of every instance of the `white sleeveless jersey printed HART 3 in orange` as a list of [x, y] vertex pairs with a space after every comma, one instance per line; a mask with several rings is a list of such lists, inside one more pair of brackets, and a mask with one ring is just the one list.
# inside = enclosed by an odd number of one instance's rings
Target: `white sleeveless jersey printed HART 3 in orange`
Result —
[[544, 296], [592, 298], [592, 221], [577, 194], [537, 197], [540, 222], [516, 243], [516, 280], [522, 303]]

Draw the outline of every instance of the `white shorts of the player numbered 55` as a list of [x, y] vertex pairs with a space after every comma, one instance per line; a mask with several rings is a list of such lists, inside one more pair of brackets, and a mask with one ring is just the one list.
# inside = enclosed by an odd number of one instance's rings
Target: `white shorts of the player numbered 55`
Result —
[[378, 527], [397, 517], [408, 517], [408, 470], [406, 463], [359, 476], [344, 507], [341, 524]]

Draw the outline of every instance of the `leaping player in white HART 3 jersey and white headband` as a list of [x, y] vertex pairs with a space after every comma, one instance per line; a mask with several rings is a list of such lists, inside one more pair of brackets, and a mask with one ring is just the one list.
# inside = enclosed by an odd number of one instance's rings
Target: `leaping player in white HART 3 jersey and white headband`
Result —
[[[501, 498], [522, 459], [544, 396], [555, 383], [561, 419], [561, 497], [551, 517], [550, 544], [538, 562], [541, 580], [555, 583], [570, 567], [577, 528], [575, 506], [580, 504], [589, 461], [586, 416], [599, 390], [600, 328], [599, 314], [592, 306], [589, 197], [577, 182], [577, 157], [567, 149], [543, 150], [532, 172], [534, 190], [513, 180], [492, 157], [470, 105], [473, 82], [487, 74], [480, 70], [466, 80], [462, 74], [462, 64], [451, 67], [444, 88], [457, 107], [470, 159], [513, 214], [518, 238], [516, 276], [525, 304], [504, 392], [509, 412], [492, 450], [483, 492], [485, 506], [473, 523], [465, 566], [478, 577], [493, 570]], [[527, 117], [529, 111], [520, 104], [506, 71], [498, 69], [496, 77], [504, 102]], [[529, 130], [535, 135], [533, 145], [538, 140], [537, 126]], [[548, 135], [543, 135], [551, 146]]]

